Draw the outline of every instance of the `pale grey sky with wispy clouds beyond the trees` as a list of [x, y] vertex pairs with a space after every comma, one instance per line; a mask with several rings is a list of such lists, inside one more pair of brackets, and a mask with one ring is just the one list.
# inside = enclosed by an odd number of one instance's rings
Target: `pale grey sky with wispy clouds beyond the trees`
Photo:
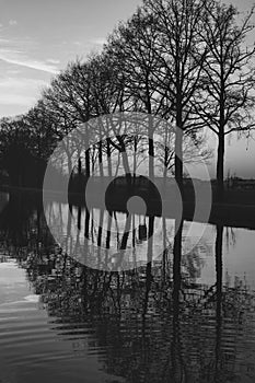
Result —
[[[77, 57], [100, 50], [141, 1], [0, 0], [0, 118], [26, 113], [54, 76]], [[245, 11], [253, 0], [225, 2]], [[246, 147], [231, 139], [225, 172], [255, 178], [255, 141]], [[213, 169], [212, 161], [212, 176]]]

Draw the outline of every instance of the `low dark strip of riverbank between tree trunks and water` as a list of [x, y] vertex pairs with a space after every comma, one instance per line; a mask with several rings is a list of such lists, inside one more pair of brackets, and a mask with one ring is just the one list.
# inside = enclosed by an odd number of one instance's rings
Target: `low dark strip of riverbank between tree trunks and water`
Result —
[[[31, 201], [43, 202], [43, 193], [39, 189], [32, 188], [10, 188], [3, 187], [2, 192], [8, 193], [10, 198], [19, 199], [30, 199]], [[242, 195], [245, 195], [245, 192], [242, 192]], [[58, 201], [61, 204], [69, 202], [73, 206], [85, 207], [84, 195], [81, 194], [69, 194], [68, 199], [67, 196], [57, 190], [50, 190], [45, 193], [45, 200], [49, 201]], [[247, 201], [250, 200], [250, 204]], [[245, 204], [244, 204], [245, 201]], [[247, 228], [255, 229], [255, 204], [251, 204], [251, 198], [244, 199], [244, 201], [236, 202], [232, 200], [231, 202], [227, 199], [225, 202], [212, 202], [211, 209], [209, 209], [209, 216], [206, 214], [208, 211], [208, 207], [199, 206], [198, 213], [194, 217], [195, 205], [193, 201], [185, 201], [183, 204], [183, 218], [185, 220], [195, 220], [198, 222], [206, 222], [212, 224], [222, 224], [232, 228]], [[105, 201], [101, 201], [97, 198], [92, 198], [90, 207], [105, 209]], [[4, 204], [7, 205], [7, 204]], [[123, 196], [120, 198], [115, 198], [111, 200], [111, 204], [107, 204], [108, 210], [118, 210], [118, 211], [127, 211], [126, 204], [124, 204]], [[138, 211], [139, 212], [139, 211]], [[159, 200], [150, 200], [147, 204], [147, 214], [148, 216], [164, 216], [166, 218], [176, 218], [179, 217], [179, 208], [176, 206], [174, 200], [164, 200], [161, 204]]]

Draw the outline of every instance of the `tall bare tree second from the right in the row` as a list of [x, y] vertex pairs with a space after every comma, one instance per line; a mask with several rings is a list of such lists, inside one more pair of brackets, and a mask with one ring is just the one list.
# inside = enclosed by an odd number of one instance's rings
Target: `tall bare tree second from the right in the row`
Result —
[[[160, 65], [155, 81], [166, 95], [170, 116], [173, 117], [175, 135], [175, 177], [183, 185], [183, 134], [194, 113], [190, 103], [196, 97], [206, 56], [200, 31], [204, 25], [204, 0], [144, 0], [144, 9], [157, 26], [153, 51]], [[197, 121], [196, 128], [201, 123]]]

